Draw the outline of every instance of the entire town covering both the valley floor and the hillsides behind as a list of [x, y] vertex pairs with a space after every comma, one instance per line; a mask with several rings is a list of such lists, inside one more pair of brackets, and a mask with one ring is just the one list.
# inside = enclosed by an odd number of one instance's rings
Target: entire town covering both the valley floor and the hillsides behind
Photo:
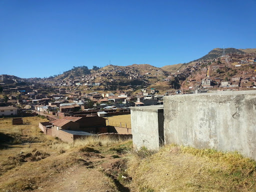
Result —
[[[75, 75], [80, 73], [70, 70], [54, 78], [21, 79], [3, 74], [0, 75], [0, 86], [3, 87], [2, 94], [8, 96], [8, 101], [1, 98], [0, 106], [13, 105], [27, 111], [39, 106], [39, 111], [46, 113], [59, 110], [74, 112], [92, 107], [100, 109], [107, 105], [129, 107], [135, 102], [148, 100], [144, 98], [146, 93], [157, 95], [158, 88], [161, 88], [159, 94], [175, 94], [178, 90], [185, 93], [189, 89], [192, 92], [203, 87], [209, 91], [253, 89], [255, 64], [255, 55], [252, 53], [229, 53], [214, 59], [202, 58], [183, 63], [171, 72], [149, 64], [132, 64], [107, 65], [82, 75]], [[146, 89], [146, 92], [141, 89]], [[83, 102], [83, 105], [77, 102]], [[76, 104], [62, 105], [60, 109], [61, 103]]]

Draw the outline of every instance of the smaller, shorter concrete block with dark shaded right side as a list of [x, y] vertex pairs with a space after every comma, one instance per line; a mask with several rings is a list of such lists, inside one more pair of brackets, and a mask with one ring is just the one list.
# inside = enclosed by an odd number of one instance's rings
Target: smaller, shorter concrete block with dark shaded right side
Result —
[[163, 141], [163, 106], [131, 107], [130, 115], [133, 146], [159, 148]]

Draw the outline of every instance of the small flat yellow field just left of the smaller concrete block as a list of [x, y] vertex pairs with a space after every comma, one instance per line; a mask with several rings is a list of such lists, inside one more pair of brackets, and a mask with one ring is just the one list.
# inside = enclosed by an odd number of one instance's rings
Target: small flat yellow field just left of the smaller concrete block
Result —
[[120, 126], [120, 123], [121, 123], [121, 127], [125, 127], [125, 123], [126, 123], [126, 127], [131, 128], [130, 114], [109, 116], [105, 118], [106, 118], [106, 125], [108, 125], [108, 122], [109, 122], [110, 126]]

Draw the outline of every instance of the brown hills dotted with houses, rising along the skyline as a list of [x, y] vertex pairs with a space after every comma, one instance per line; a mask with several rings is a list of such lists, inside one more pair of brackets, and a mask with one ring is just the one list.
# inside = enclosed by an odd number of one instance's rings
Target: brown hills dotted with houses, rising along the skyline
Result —
[[[254, 61], [256, 48], [225, 48], [224, 51], [225, 56], [222, 56], [223, 49], [214, 48], [194, 61], [165, 65], [161, 68], [150, 64], [127, 66], [110, 64], [102, 68], [93, 66], [92, 69], [88, 69], [87, 66], [73, 66], [72, 69], [57, 76], [25, 80], [31, 84], [39, 82], [56, 87], [70, 86], [69, 89], [78, 88], [87, 92], [117, 89], [133, 92], [141, 88], [155, 88], [164, 93], [164, 89], [200, 88], [201, 81], [207, 77], [208, 72], [212, 81], [212, 86], [208, 88], [218, 88], [223, 81], [228, 82], [229, 87], [236, 86], [238, 89], [256, 85], [256, 61]], [[24, 79], [10, 75], [3, 76], [2, 81], [6, 84], [25, 84]], [[240, 77], [239, 82], [231, 82], [234, 77]]]

